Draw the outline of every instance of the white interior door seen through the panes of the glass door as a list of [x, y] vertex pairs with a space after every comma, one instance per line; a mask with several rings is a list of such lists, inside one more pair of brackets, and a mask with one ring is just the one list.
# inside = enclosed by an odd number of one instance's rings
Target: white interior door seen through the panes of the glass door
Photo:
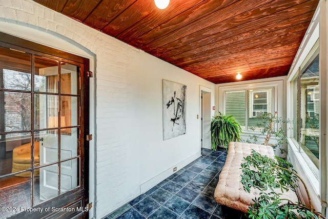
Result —
[[[39, 126], [40, 178], [38, 202], [47, 201], [79, 186], [79, 67], [35, 57], [35, 74], [43, 77], [36, 93], [35, 127]], [[42, 65], [43, 64], [43, 65]], [[46, 65], [48, 64], [48, 65]], [[37, 134], [37, 131], [35, 132]], [[63, 162], [60, 162], [63, 161]]]

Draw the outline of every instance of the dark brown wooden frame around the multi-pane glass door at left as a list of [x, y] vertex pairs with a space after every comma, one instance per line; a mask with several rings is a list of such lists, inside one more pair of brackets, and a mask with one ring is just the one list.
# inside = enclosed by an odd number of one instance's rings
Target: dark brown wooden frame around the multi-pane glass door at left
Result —
[[[40, 45], [37, 43], [33, 43], [31, 41], [27, 41], [26, 39], [19, 38], [10, 34], [6, 34], [0, 32], [0, 46], [22, 50], [26, 52], [32, 52], [34, 54], [50, 54], [57, 56], [58, 58], [68, 59], [73, 62], [80, 63], [83, 65], [83, 70], [80, 70], [80, 99], [84, 102], [83, 106], [81, 106], [80, 110], [80, 126], [81, 133], [80, 133], [80, 151], [81, 151], [81, 160], [80, 166], [83, 168], [81, 169], [80, 173], [80, 187], [70, 190], [66, 193], [60, 194], [54, 198], [51, 198], [48, 201], [43, 202], [42, 204], [33, 206], [32, 208], [52, 208], [56, 206], [56, 208], [75, 208], [82, 207], [85, 209], [87, 204], [89, 203], [89, 141], [87, 141], [87, 135], [89, 134], [89, 106], [90, 106], [90, 99], [89, 99], [89, 91], [90, 91], [90, 84], [89, 84], [89, 77], [87, 77], [86, 72], [89, 71], [90, 68], [90, 61], [88, 58], [81, 57], [78, 55], [74, 55], [65, 51], [57, 50], [51, 47], [47, 47], [44, 45]], [[77, 197], [80, 198], [77, 198]], [[37, 217], [89, 217], [89, 211], [85, 210], [80, 213], [75, 211], [75, 214], [70, 214], [71, 212], [52, 212], [51, 210], [46, 213], [46, 211], [40, 212], [29, 212], [24, 211], [18, 214], [13, 215], [11, 218], [37, 218]]]

